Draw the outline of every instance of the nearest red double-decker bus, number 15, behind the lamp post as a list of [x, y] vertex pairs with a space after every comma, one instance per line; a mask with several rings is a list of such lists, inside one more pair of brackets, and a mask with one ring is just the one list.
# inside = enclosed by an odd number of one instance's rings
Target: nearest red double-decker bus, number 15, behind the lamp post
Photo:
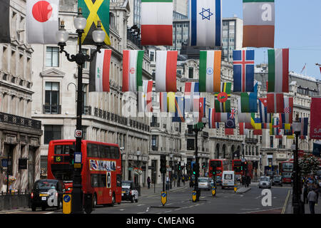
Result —
[[[76, 140], [51, 140], [48, 151], [48, 178], [61, 180], [71, 188], [73, 166], [69, 164], [69, 152], [75, 150], [75, 143]], [[83, 194], [93, 196], [93, 207], [120, 203], [121, 152], [118, 145], [81, 140], [81, 152]]]

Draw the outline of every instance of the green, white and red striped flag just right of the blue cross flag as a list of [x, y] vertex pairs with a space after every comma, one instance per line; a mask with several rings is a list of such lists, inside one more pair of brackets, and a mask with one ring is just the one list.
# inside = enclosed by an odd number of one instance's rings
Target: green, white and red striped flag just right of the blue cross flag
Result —
[[289, 48], [269, 49], [267, 93], [289, 93]]

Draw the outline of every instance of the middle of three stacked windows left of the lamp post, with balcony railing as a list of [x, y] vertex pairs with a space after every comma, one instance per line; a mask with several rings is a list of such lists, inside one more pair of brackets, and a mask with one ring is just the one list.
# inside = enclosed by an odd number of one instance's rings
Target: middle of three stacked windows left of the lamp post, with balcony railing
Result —
[[44, 113], [60, 114], [59, 83], [46, 82]]

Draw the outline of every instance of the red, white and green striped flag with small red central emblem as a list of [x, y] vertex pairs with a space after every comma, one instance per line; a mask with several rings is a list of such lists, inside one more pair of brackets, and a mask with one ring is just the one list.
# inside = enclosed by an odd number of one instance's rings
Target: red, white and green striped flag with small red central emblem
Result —
[[123, 50], [123, 92], [138, 91], [143, 86], [144, 51]]

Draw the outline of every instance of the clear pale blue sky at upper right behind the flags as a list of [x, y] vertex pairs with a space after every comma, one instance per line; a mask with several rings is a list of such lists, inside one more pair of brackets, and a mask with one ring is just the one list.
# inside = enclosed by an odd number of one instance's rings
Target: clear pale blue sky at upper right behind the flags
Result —
[[[275, 46], [289, 48], [289, 71], [321, 80], [321, 1], [275, 0]], [[242, 0], [222, 0], [223, 18], [243, 19]], [[267, 63], [267, 48], [255, 49], [255, 64]]]

